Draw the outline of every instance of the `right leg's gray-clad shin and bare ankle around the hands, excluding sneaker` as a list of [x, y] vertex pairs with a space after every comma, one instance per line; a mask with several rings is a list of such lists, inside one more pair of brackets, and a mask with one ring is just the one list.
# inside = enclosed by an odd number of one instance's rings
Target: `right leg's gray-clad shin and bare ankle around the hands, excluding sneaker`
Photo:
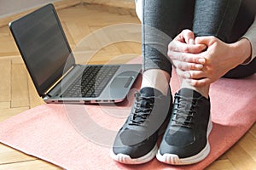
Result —
[[[241, 0], [197, 0], [193, 25], [195, 36], [214, 36], [228, 42], [240, 6]], [[182, 84], [183, 88], [195, 89], [208, 97], [210, 86], [195, 88], [185, 81]]]

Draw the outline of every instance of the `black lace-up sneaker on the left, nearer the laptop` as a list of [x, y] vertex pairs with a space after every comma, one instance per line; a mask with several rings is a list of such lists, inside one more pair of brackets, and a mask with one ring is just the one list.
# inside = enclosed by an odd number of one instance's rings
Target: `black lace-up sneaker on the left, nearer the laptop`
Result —
[[141, 164], [157, 153], [157, 139], [164, 133], [172, 113], [172, 94], [154, 88], [142, 88], [123, 127], [119, 129], [111, 150], [115, 161]]

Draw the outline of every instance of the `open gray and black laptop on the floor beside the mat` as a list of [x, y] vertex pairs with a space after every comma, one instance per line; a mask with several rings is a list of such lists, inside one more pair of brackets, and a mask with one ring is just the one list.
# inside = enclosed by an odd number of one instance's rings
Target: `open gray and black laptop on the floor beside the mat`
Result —
[[76, 64], [54, 5], [9, 23], [32, 82], [46, 103], [115, 103], [125, 99], [142, 65]]

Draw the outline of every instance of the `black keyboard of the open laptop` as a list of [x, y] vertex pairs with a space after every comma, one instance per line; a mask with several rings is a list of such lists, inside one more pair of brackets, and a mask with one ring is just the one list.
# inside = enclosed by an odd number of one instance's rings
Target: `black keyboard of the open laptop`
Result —
[[118, 69], [119, 65], [87, 66], [62, 97], [98, 97]]

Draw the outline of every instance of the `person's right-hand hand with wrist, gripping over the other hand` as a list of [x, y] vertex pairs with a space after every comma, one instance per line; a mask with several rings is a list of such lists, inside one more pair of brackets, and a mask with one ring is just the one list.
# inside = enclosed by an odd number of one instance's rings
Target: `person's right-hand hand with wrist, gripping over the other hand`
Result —
[[200, 71], [185, 71], [187, 81], [195, 87], [202, 87], [223, 77], [251, 55], [251, 44], [243, 38], [235, 43], [225, 43], [217, 37], [196, 37], [195, 44], [205, 44], [207, 50], [198, 57], [206, 59]]

